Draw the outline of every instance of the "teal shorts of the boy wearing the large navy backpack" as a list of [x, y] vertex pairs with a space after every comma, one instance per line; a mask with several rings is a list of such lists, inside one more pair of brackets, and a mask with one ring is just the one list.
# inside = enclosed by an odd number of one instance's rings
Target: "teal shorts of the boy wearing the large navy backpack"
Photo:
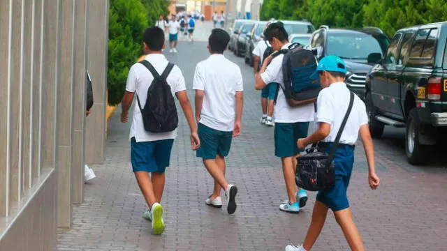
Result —
[[307, 137], [309, 122], [274, 123], [274, 155], [279, 158], [293, 157], [304, 151], [297, 141]]

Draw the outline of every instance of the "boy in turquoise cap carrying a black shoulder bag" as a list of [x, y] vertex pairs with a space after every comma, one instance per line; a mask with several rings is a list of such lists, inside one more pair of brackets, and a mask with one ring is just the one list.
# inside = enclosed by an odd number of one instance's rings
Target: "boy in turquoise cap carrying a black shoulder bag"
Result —
[[[319, 142], [318, 147], [329, 153], [342, 125], [344, 114], [349, 107], [351, 91], [344, 83], [347, 72], [346, 65], [338, 56], [326, 56], [321, 59], [317, 70], [323, 88], [317, 100], [316, 122], [318, 122], [318, 129], [309, 137], [298, 139], [297, 144], [299, 148], [304, 148], [309, 144]], [[358, 96], [355, 96], [351, 114], [349, 114], [339, 146], [335, 151], [335, 186], [330, 190], [318, 192], [312, 222], [307, 230], [304, 243], [299, 247], [288, 245], [286, 251], [309, 251], [323, 229], [329, 209], [334, 212], [335, 220], [342, 228], [351, 250], [365, 250], [360, 233], [353, 222], [346, 196], [353, 169], [354, 148], [359, 134], [369, 167], [369, 186], [373, 190], [379, 186], [380, 180], [375, 170], [374, 146], [369, 134], [365, 104]]]

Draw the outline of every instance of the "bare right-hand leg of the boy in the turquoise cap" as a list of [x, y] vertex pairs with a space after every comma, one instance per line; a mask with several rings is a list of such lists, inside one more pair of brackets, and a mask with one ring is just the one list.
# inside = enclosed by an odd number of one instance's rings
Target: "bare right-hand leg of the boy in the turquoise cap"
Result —
[[334, 215], [335, 220], [337, 220], [337, 223], [340, 227], [342, 227], [343, 234], [346, 237], [346, 241], [348, 241], [351, 250], [365, 250], [365, 247], [363, 247], [362, 237], [360, 236], [357, 226], [353, 221], [351, 208], [336, 211], [334, 212]]

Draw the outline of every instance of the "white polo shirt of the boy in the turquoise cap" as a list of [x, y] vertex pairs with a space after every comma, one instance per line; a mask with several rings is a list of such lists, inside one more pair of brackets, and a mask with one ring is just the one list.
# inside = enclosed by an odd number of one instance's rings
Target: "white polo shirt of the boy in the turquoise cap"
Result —
[[[350, 91], [344, 82], [330, 84], [318, 94], [316, 122], [330, 124], [330, 134], [324, 142], [334, 142], [342, 126], [344, 115], [349, 106]], [[354, 96], [354, 103], [348, 121], [340, 137], [340, 143], [354, 145], [358, 139], [360, 126], [368, 123], [365, 103]]]

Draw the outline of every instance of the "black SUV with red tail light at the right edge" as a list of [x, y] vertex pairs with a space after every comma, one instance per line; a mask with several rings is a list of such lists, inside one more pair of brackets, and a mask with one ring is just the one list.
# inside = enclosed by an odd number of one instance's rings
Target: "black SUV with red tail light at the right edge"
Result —
[[367, 76], [365, 103], [369, 129], [381, 137], [383, 126], [406, 128], [406, 156], [413, 165], [427, 160], [426, 145], [446, 135], [447, 22], [401, 29], [386, 55]]

